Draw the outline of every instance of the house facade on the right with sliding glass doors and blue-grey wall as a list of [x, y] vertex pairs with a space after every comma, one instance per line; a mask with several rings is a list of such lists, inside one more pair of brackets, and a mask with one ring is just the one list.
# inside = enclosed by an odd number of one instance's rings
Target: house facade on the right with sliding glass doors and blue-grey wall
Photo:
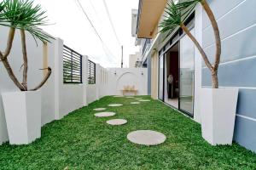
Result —
[[[234, 140], [256, 151], [256, 1], [207, 0], [218, 21], [222, 56], [218, 77], [220, 88], [239, 88]], [[201, 88], [211, 87], [211, 73], [201, 54], [180, 28], [170, 35], [160, 33], [167, 0], [140, 0], [137, 38], [150, 41], [143, 59], [150, 60], [151, 96], [201, 122]], [[215, 43], [207, 14], [198, 4], [185, 21], [214, 58]]]

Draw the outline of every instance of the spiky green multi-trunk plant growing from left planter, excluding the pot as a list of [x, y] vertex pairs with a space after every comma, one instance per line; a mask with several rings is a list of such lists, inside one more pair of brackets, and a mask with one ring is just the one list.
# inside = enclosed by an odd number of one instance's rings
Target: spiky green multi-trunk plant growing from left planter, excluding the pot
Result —
[[[47, 17], [44, 16], [45, 11], [42, 11], [40, 5], [33, 4], [32, 0], [3, 0], [0, 3], [0, 25], [9, 26], [9, 35], [7, 40], [7, 45], [4, 52], [0, 51], [0, 59], [3, 62], [3, 65], [6, 71], [9, 74], [11, 80], [15, 85], [20, 88], [21, 91], [28, 90], [38, 90], [41, 88], [45, 82], [49, 79], [51, 74], [51, 68], [46, 68], [48, 73], [45, 75], [42, 82], [38, 84], [37, 87], [28, 89], [27, 88], [27, 53], [26, 53], [26, 31], [29, 32], [32, 37], [34, 37], [35, 42], [40, 40], [42, 42], [49, 42], [50, 37], [47, 33], [38, 28], [38, 26], [46, 26]], [[12, 48], [12, 44], [15, 37], [15, 31], [20, 30], [21, 37], [21, 46], [22, 46], [22, 55], [23, 55], [23, 79], [22, 82], [19, 82], [17, 77], [9, 65], [9, 54]]]

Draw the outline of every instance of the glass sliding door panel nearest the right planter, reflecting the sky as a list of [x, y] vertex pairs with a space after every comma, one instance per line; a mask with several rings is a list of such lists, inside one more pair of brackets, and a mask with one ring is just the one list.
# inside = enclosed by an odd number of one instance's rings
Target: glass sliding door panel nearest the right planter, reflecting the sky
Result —
[[[194, 29], [191, 30], [194, 34]], [[180, 40], [179, 109], [193, 116], [195, 45], [188, 36]]]

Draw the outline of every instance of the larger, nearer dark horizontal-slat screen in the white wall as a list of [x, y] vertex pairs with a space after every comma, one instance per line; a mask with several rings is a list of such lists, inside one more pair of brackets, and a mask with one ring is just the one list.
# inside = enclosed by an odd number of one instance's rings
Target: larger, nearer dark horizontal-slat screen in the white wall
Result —
[[82, 83], [82, 55], [64, 45], [63, 82]]

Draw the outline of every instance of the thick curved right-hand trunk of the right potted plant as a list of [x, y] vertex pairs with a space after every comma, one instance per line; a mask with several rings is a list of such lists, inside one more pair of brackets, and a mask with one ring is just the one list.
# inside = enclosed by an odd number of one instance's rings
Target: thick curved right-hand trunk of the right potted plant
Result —
[[202, 0], [201, 5], [205, 9], [205, 11], [209, 17], [209, 20], [211, 21], [212, 28], [214, 31], [216, 53], [215, 53], [215, 63], [214, 63], [213, 69], [214, 69], [214, 71], [218, 71], [218, 65], [220, 62], [220, 55], [221, 55], [221, 40], [220, 40], [220, 35], [219, 35], [219, 30], [218, 30], [218, 24], [214, 17], [214, 14], [212, 13], [212, 9], [209, 7], [207, 1]]

